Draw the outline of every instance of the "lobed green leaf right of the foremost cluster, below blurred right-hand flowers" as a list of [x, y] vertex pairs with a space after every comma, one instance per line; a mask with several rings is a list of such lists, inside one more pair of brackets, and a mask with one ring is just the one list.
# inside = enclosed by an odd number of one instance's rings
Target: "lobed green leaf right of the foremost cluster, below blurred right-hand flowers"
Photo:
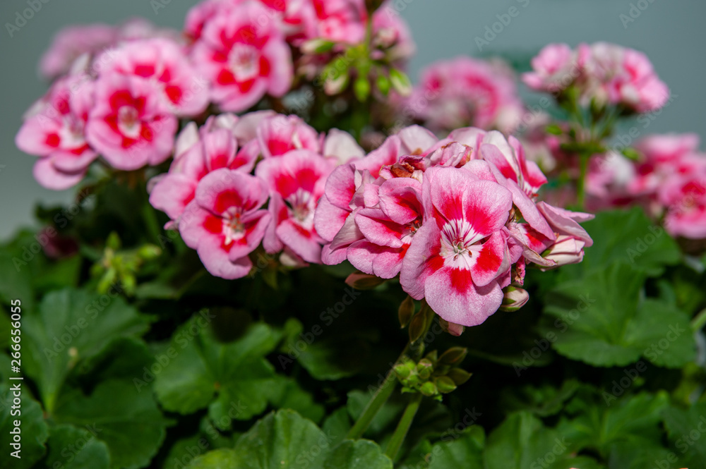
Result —
[[665, 265], [681, 258], [678, 245], [661, 226], [650, 222], [642, 209], [601, 212], [581, 224], [593, 238], [580, 264], [561, 267], [560, 277], [578, 279], [616, 260], [631, 264], [649, 276], [659, 276]]

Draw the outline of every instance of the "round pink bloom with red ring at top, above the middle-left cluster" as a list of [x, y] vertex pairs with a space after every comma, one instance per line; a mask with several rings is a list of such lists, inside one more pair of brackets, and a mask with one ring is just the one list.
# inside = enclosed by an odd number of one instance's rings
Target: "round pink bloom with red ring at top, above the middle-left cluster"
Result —
[[279, 22], [268, 15], [262, 4], [239, 4], [210, 18], [193, 46], [196, 68], [212, 83], [211, 99], [225, 111], [244, 111], [268, 93], [289, 90], [292, 56]]

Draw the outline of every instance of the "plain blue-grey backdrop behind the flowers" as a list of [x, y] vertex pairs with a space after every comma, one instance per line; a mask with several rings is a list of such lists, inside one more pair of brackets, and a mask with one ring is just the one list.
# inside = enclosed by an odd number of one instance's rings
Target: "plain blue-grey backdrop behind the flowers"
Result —
[[[165, 4], [156, 11], [149, 0], [43, 0], [40, 11], [10, 37], [5, 24], [28, 8], [27, 0], [1, 0], [0, 57], [0, 239], [18, 226], [32, 224], [36, 202], [68, 202], [71, 190], [41, 188], [32, 178], [34, 157], [14, 145], [20, 116], [40, 97], [46, 84], [37, 78], [37, 61], [54, 33], [71, 23], [119, 23], [143, 16], [157, 25], [179, 28], [195, 0], [155, 0]], [[32, 1], [32, 0], [30, 0]], [[37, 3], [40, 0], [33, 0]], [[630, 4], [642, 8], [634, 22], [623, 25]], [[489, 53], [530, 56], [549, 42], [604, 40], [645, 51], [659, 76], [669, 85], [671, 104], [640, 131], [696, 132], [706, 136], [706, 1], [703, 0], [397, 0], [395, 8], [408, 21], [417, 42], [412, 60], [413, 79], [421, 67], [435, 59], [458, 54]], [[519, 14], [482, 51], [475, 37], [498, 21], [496, 15], [515, 6]], [[645, 8], [646, 7], [646, 8]], [[639, 11], [639, 10], [637, 10]], [[633, 11], [635, 13], [635, 11]], [[496, 25], [496, 30], [500, 28]]]

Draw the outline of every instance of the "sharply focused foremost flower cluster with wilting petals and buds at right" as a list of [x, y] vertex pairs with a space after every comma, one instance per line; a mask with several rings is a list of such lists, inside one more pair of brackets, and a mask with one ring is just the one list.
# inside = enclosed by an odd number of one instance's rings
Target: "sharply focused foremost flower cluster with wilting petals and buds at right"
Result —
[[544, 183], [513, 137], [461, 128], [438, 140], [405, 128], [329, 176], [314, 220], [328, 241], [322, 260], [399, 275], [446, 322], [480, 324], [503, 304], [503, 288], [515, 305], [526, 301], [517, 294], [526, 261], [580, 262], [592, 244], [578, 224], [592, 216], [537, 202]]

